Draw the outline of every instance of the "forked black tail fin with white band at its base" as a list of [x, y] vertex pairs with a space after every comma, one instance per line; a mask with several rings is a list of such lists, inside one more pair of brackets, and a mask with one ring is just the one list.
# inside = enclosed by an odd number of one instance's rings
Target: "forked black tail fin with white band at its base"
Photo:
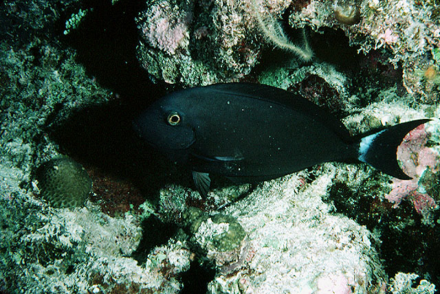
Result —
[[397, 179], [409, 180], [397, 162], [397, 147], [413, 128], [430, 120], [412, 120], [397, 124], [360, 139], [358, 159]]

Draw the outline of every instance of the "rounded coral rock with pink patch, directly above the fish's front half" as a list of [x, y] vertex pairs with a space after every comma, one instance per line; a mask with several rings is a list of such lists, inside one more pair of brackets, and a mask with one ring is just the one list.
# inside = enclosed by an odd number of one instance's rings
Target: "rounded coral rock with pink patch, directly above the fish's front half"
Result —
[[[265, 1], [264, 5], [256, 0], [192, 2], [146, 1], [148, 9], [137, 18], [143, 39], [138, 56], [155, 80], [195, 86], [243, 78], [258, 63], [263, 48], [264, 42], [255, 38], [262, 34], [259, 23], [269, 21], [277, 34], [267, 38], [278, 46], [297, 48], [299, 56], [310, 59], [307, 45], [300, 49], [286, 36], [276, 37], [282, 33], [276, 19], [290, 1]], [[267, 27], [266, 34], [272, 32]]]

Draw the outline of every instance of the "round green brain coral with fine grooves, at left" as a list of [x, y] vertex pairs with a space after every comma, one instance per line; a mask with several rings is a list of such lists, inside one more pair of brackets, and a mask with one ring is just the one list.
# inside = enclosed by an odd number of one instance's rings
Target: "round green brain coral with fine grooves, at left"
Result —
[[36, 170], [43, 199], [52, 207], [83, 205], [91, 192], [91, 179], [80, 163], [63, 157], [46, 161]]

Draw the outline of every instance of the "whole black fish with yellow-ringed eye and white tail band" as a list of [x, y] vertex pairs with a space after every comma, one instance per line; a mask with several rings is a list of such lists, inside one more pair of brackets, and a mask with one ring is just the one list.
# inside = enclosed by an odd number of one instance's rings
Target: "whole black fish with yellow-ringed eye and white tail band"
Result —
[[361, 139], [305, 98], [263, 84], [185, 89], [153, 103], [134, 122], [146, 142], [192, 170], [206, 195], [209, 174], [237, 183], [275, 179], [325, 161], [363, 161], [399, 179], [397, 146], [415, 120]]

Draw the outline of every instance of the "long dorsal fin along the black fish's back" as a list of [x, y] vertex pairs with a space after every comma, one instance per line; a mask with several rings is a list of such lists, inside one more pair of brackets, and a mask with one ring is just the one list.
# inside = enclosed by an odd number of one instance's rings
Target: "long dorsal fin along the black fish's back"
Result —
[[347, 128], [336, 119], [331, 113], [322, 109], [320, 106], [310, 102], [304, 97], [278, 89], [276, 87], [267, 86], [265, 84], [252, 84], [248, 82], [230, 82], [224, 84], [212, 84], [206, 89], [210, 91], [220, 91], [221, 93], [227, 93], [228, 95], [236, 95], [241, 97], [247, 97], [258, 100], [265, 100], [268, 102], [281, 104], [287, 106], [294, 111], [298, 111], [314, 120], [325, 124], [329, 127], [333, 133], [336, 133], [344, 142], [350, 141], [350, 134]]

